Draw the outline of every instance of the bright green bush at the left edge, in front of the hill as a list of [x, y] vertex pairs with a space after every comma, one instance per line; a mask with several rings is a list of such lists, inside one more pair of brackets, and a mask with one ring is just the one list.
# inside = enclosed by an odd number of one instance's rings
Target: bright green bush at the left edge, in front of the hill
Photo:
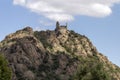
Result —
[[8, 62], [3, 55], [0, 54], [0, 80], [11, 80], [12, 71], [8, 67]]

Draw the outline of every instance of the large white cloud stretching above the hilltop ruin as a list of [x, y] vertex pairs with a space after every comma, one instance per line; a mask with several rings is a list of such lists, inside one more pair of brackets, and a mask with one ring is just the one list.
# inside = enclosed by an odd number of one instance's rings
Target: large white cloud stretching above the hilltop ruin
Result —
[[54, 21], [71, 21], [74, 16], [105, 17], [120, 0], [13, 0], [15, 5], [28, 8]]

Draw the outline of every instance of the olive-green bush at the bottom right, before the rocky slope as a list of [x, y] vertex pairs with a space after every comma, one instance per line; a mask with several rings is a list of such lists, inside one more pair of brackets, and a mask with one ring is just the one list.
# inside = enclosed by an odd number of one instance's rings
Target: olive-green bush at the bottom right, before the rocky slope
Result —
[[111, 80], [110, 74], [104, 69], [103, 63], [96, 58], [82, 59], [77, 72], [70, 80]]

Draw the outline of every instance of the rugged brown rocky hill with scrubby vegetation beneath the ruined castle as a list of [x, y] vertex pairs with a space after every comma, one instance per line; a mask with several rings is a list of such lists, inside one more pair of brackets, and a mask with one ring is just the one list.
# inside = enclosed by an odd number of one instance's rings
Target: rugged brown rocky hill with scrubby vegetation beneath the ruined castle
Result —
[[120, 80], [120, 68], [83, 35], [26, 27], [0, 42], [12, 80]]

